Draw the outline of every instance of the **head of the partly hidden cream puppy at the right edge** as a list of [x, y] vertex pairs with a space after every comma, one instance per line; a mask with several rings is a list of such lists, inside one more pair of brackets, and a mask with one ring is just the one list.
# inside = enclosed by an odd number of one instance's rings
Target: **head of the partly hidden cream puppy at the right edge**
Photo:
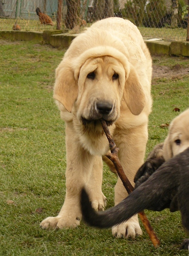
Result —
[[189, 109], [178, 115], [170, 124], [164, 141], [163, 154], [167, 161], [189, 147]]

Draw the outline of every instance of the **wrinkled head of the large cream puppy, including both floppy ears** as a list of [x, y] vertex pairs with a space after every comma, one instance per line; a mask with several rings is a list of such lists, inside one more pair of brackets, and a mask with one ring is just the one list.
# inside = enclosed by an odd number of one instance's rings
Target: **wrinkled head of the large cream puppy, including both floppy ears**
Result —
[[126, 56], [113, 47], [94, 47], [56, 70], [54, 99], [74, 111], [83, 124], [101, 118], [113, 123], [124, 98], [133, 115], [139, 115], [146, 96], [139, 77]]

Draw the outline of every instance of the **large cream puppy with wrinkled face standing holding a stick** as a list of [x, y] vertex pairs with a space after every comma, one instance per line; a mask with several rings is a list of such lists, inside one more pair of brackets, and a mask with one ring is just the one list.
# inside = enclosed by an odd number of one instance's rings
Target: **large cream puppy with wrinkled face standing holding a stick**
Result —
[[[41, 222], [43, 229], [75, 228], [80, 224], [83, 186], [92, 207], [105, 208], [102, 156], [109, 147], [101, 118], [120, 148], [120, 162], [133, 184], [148, 138], [151, 72], [150, 53], [138, 28], [128, 20], [97, 21], [73, 40], [57, 67], [54, 87], [54, 99], [66, 123], [66, 196], [58, 216]], [[115, 204], [126, 196], [118, 178]], [[117, 237], [141, 233], [137, 216], [113, 227]]]

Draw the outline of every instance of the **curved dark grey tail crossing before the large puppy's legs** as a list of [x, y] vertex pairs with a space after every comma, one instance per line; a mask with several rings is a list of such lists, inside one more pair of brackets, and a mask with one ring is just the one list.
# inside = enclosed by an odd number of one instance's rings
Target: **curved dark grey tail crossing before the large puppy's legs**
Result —
[[145, 209], [144, 202], [140, 202], [140, 200], [137, 198], [135, 198], [135, 200], [133, 198], [135, 196], [132, 196], [132, 198], [130, 196], [124, 199], [118, 205], [107, 209], [106, 211], [96, 212], [91, 206], [91, 202], [86, 190], [82, 189], [82, 218], [85, 222], [88, 223], [88, 225], [98, 228], [110, 228], [116, 224], [124, 222], [131, 218], [133, 215]]

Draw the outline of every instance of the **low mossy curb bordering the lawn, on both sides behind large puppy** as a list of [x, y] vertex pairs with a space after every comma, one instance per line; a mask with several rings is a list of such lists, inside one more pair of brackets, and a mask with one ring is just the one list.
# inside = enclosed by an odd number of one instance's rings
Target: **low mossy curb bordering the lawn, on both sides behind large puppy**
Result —
[[[0, 38], [7, 40], [34, 41], [50, 44], [52, 47], [69, 47], [76, 34], [63, 33], [62, 30], [28, 32], [28, 31], [0, 31]], [[151, 55], [177, 55], [189, 57], [189, 41], [167, 42], [164, 40], [145, 40]]]

